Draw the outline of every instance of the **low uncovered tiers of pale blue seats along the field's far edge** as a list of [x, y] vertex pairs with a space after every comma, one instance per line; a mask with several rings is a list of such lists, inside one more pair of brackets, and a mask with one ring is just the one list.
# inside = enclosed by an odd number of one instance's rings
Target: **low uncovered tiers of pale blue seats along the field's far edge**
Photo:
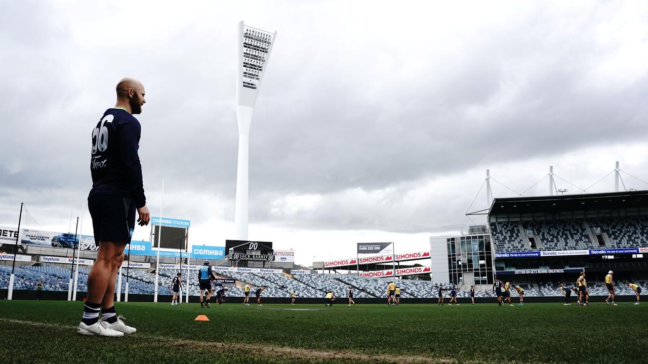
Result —
[[[8, 274], [11, 271], [10, 266], [0, 265], [0, 289], [6, 289], [8, 286]], [[87, 274], [88, 267], [79, 267], [78, 290], [87, 291]], [[175, 269], [160, 269], [160, 292], [166, 293], [166, 288], [170, 280], [178, 273]], [[184, 272], [183, 272], [184, 273]], [[191, 272], [192, 274], [195, 271]], [[43, 290], [45, 291], [67, 291], [70, 269], [58, 264], [43, 264], [41, 266], [17, 266], [16, 267], [16, 290], [36, 290], [36, 282], [42, 280]], [[126, 291], [126, 269], [123, 270], [122, 293]], [[242, 286], [249, 283], [254, 288], [266, 285], [264, 297], [290, 297], [290, 293], [295, 291], [297, 297], [303, 298], [321, 298], [326, 291], [331, 290], [336, 297], [347, 297], [349, 286], [354, 289], [356, 299], [364, 298], [384, 298], [386, 294], [386, 283], [384, 279], [371, 279], [357, 277], [354, 275], [329, 275], [329, 274], [299, 274], [289, 275], [287, 273], [218, 273], [220, 277], [235, 279], [235, 284], [226, 284], [229, 288], [227, 297], [244, 297]], [[130, 269], [128, 273], [130, 294], [153, 295], [155, 288], [155, 274], [149, 273], [147, 269]], [[518, 278], [518, 277], [516, 277]], [[184, 279], [184, 278], [183, 278]], [[185, 280], [186, 282], [186, 280]], [[436, 299], [439, 286], [448, 297], [452, 285], [450, 284], [433, 284], [425, 280], [395, 280], [401, 288], [401, 297], [404, 299]], [[634, 291], [627, 288], [621, 280], [616, 280], [617, 295], [634, 296]], [[645, 280], [637, 281], [640, 286], [648, 284]], [[562, 293], [558, 290], [558, 284], [555, 282], [540, 282], [537, 284], [520, 283], [524, 288], [525, 297], [558, 297]], [[117, 289], [115, 289], [117, 291]], [[600, 282], [590, 283], [591, 295], [607, 295], [605, 285]], [[199, 295], [198, 282], [194, 277], [190, 280], [189, 295], [196, 297]], [[511, 291], [511, 295], [516, 297], [516, 292]], [[469, 298], [467, 290], [457, 291], [457, 297]], [[476, 290], [476, 297], [487, 298], [495, 297], [494, 291], [490, 288], [485, 290]]]

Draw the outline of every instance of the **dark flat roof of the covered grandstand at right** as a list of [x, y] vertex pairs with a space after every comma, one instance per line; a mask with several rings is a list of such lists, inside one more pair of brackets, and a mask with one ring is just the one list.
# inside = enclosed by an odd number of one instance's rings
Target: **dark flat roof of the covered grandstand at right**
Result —
[[648, 207], [648, 191], [493, 199], [489, 215]]

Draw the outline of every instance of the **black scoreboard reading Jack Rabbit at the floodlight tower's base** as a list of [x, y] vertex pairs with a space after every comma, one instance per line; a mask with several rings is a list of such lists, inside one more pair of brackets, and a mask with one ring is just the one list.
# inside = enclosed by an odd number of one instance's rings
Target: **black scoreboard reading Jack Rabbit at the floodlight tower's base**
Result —
[[233, 267], [266, 268], [275, 260], [272, 242], [226, 240], [225, 251]]

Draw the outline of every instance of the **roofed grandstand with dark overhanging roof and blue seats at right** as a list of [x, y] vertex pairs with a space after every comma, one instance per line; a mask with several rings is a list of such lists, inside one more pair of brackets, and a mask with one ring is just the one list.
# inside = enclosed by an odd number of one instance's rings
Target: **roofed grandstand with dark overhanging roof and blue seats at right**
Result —
[[626, 280], [648, 280], [646, 191], [496, 198], [488, 221], [496, 275], [538, 295], [562, 295], [558, 284], [573, 285], [583, 270], [590, 295], [608, 294], [608, 270], [617, 295], [634, 295]]

